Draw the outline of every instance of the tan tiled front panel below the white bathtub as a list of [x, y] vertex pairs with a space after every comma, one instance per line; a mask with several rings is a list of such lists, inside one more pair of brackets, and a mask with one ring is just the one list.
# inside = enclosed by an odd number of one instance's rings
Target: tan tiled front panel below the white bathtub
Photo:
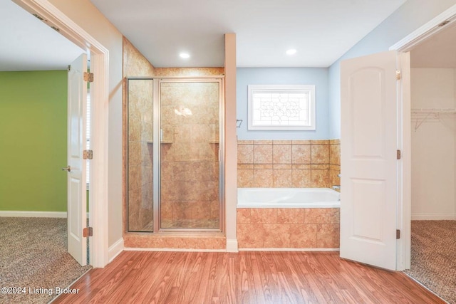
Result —
[[239, 249], [339, 248], [338, 208], [237, 209]]

